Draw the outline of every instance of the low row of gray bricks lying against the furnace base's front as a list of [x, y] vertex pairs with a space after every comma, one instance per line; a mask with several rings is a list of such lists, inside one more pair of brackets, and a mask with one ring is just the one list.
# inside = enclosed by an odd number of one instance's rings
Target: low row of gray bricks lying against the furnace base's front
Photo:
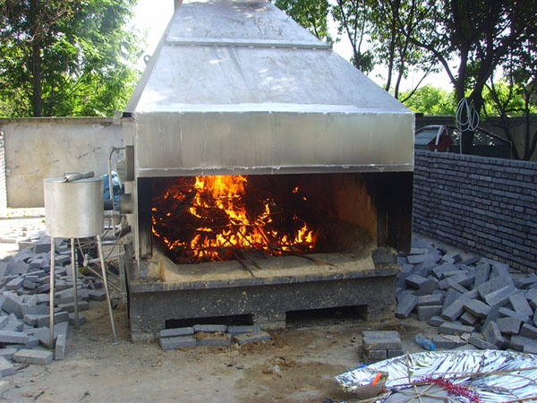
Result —
[[229, 346], [232, 341], [243, 345], [268, 340], [270, 335], [261, 330], [259, 325], [196, 324], [192, 327], [160, 330], [158, 339], [163, 350], [170, 350], [178, 347]]

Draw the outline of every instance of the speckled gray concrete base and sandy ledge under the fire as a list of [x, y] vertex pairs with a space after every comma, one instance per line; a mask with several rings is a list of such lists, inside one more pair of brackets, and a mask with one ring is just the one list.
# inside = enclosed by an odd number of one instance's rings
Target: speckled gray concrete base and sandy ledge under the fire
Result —
[[[379, 251], [384, 251], [379, 253]], [[284, 328], [289, 311], [366, 306], [366, 319], [393, 316], [395, 255], [377, 250], [367, 258], [355, 253], [256, 259], [251, 273], [238, 262], [178, 266], [157, 261], [132, 264], [129, 315], [132, 340], [155, 339], [166, 321], [251, 315], [263, 328]], [[373, 259], [373, 257], [376, 257]], [[375, 261], [375, 262], [373, 262]], [[159, 273], [159, 279], [140, 274]]]

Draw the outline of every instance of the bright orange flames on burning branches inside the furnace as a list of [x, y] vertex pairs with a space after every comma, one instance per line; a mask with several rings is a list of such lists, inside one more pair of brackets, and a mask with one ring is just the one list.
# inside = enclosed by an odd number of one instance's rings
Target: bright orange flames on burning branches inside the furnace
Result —
[[[315, 231], [295, 213], [291, 223], [280, 219], [278, 227], [273, 198], [260, 198], [251, 208], [247, 176], [196, 176], [193, 184], [192, 178], [179, 181], [154, 200], [152, 232], [167, 249], [183, 253], [180, 262], [227, 260], [251, 250], [271, 255], [313, 251]], [[297, 193], [298, 186], [291, 192]], [[306, 201], [303, 195], [298, 199]], [[177, 226], [187, 228], [184, 234], [191, 236], [172, 239], [172, 234], [181, 232]], [[282, 231], [282, 226], [291, 231]]]

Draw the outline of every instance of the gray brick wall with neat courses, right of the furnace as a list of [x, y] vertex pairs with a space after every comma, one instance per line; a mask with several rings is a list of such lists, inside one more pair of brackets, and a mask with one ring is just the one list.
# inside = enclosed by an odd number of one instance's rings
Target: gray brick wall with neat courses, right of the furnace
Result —
[[537, 270], [537, 164], [416, 150], [413, 231]]

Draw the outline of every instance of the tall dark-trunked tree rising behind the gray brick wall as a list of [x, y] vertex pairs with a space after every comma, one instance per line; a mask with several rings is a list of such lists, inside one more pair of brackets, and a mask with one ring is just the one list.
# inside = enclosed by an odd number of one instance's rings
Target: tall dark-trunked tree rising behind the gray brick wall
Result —
[[[480, 113], [485, 84], [506, 57], [531, 34], [537, 2], [426, 0], [424, 4], [428, 13], [423, 15], [413, 33], [405, 34], [443, 66], [454, 85], [456, 99], [466, 96]], [[461, 117], [464, 120], [467, 116]], [[470, 150], [472, 143], [473, 133], [463, 131], [463, 152]]]

